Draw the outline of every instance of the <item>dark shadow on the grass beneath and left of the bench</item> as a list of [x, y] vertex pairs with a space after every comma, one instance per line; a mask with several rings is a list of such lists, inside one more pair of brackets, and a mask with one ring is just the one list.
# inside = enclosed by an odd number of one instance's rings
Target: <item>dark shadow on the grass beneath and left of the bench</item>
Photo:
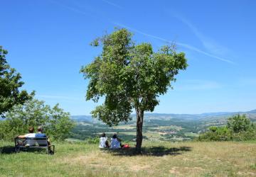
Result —
[[[36, 154], [46, 153], [46, 149], [38, 149], [38, 148], [21, 148], [21, 152], [33, 152]], [[13, 146], [6, 146], [0, 147], [0, 154], [14, 154], [15, 147]]]

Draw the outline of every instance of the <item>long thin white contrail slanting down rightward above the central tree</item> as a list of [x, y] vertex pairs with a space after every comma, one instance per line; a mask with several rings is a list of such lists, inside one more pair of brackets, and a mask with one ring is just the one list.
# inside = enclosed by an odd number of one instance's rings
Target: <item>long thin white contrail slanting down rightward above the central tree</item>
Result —
[[[112, 22], [112, 23], [114, 23], [114, 22]], [[134, 28], [130, 28], [130, 27], [127, 26], [127, 25], [123, 25], [123, 24], [120, 24], [120, 23], [114, 23], [114, 24], [115, 24], [115, 25], [122, 26], [122, 27], [124, 27], [124, 28], [128, 28], [129, 30], [133, 30], [133, 31], [135, 31], [135, 32], [137, 32], [137, 33], [140, 33], [140, 34], [142, 34], [142, 35], [146, 35], [146, 36], [151, 37], [151, 38], [155, 38], [155, 39], [158, 39], [158, 40], [162, 40], [162, 41], [168, 42], [168, 43], [171, 43], [171, 42], [172, 42], [172, 41], [170, 41], [170, 40], [166, 40], [165, 38], [161, 38], [161, 37], [156, 36], [156, 35], [151, 35], [151, 34], [148, 34], [148, 33], [144, 33], [144, 32], [142, 32], [142, 31], [140, 31], [140, 30], [137, 30], [137, 29], [134, 29]], [[196, 48], [196, 47], [193, 47], [192, 45], [188, 45], [188, 44], [186, 44], [186, 43], [176, 42], [176, 45], [179, 45], [179, 46], [181, 46], [181, 47], [185, 47], [185, 48], [187, 48], [188, 50], [193, 50], [194, 52], [201, 53], [201, 54], [206, 55], [206, 56], [208, 56], [208, 57], [212, 57], [212, 58], [215, 58], [215, 59], [219, 59], [220, 61], [223, 61], [223, 62], [227, 62], [227, 63], [230, 63], [230, 64], [235, 64], [235, 62], [232, 62], [230, 59], [225, 59], [225, 58], [223, 58], [223, 57], [218, 57], [218, 56], [212, 55], [212, 54], [210, 54], [210, 53], [208, 53], [208, 52], [204, 52], [203, 50], [200, 50], [200, 49], [198, 49], [198, 48]]]

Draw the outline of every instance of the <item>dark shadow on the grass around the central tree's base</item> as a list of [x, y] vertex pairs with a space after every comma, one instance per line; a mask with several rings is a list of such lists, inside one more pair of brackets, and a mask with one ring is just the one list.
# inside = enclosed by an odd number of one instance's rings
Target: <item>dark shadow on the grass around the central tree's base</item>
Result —
[[171, 147], [171, 148], [166, 148], [163, 146], [144, 147], [144, 148], [142, 148], [142, 154], [137, 154], [135, 150], [136, 149], [134, 147], [130, 147], [127, 149], [102, 149], [102, 151], [113, 154], [114, 156], [137, 156], [137, 155], [145, 155], [145, 156], [172, 155], [172, 156], [176, 156], [179, 154], [183, 154], [183, 152], [190, 152], [191, 147]]

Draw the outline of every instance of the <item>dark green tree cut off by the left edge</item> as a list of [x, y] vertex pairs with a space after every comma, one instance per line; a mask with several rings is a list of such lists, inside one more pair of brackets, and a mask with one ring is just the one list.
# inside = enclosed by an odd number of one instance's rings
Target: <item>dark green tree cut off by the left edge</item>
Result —
[[19, 91], [23, 86], [21, 74], [17, 73], [6, 62], [7, 50], [0, 46], [0, 116], [10, 110], [14, 105], [23, 104], [26, 100], [31, 99], [33, 93], [28, 94], [26, 91]]

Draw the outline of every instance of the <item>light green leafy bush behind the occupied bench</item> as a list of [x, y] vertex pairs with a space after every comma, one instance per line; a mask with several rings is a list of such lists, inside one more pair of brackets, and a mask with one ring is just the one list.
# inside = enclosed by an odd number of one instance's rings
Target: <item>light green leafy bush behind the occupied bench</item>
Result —
[[6, 113], [6, 120], [0, 121], [0, 139], [14, 139], [17, 135], [26, 134], [28, 127], [36, 129], [38, 126], [43, 126], [51, 138], [63, 140], [68, 137], [74, 122], [58, 104], [50, 108], [43, 101], [33, 99], [24, 105], [15, 105]]

